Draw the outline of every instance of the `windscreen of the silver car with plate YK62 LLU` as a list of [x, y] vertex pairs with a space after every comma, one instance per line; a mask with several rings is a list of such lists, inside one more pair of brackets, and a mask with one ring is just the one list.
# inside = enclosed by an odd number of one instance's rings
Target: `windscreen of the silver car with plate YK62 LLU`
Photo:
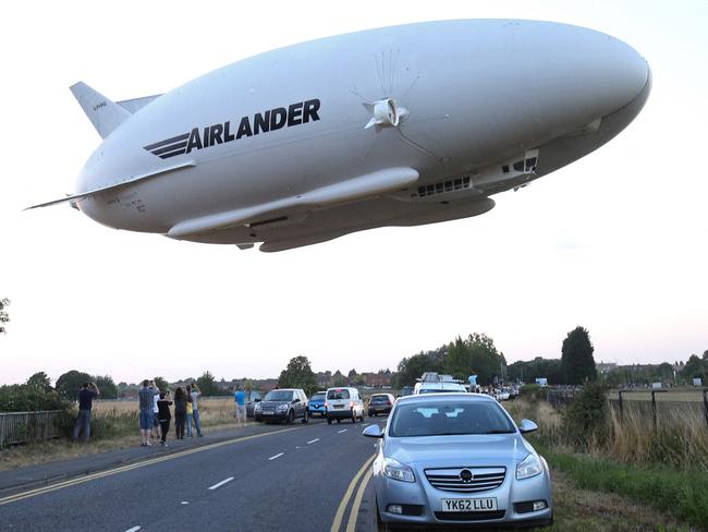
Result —
[[399, 404], [391, 421], [389, 435], [406, 437], [513, 432], [514, 425], [497, 402], [450, 398]]

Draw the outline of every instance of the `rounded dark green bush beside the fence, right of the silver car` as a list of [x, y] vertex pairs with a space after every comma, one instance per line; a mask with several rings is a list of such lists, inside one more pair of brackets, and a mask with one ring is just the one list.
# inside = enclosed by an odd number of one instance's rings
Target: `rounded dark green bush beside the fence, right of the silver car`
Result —
[[605, 444], [609, 435], [609, 407], [605, 387], [588, 383], [575, 400], [563, 411], [563, 425], [569, 444], [587, 450], [595, 444]]

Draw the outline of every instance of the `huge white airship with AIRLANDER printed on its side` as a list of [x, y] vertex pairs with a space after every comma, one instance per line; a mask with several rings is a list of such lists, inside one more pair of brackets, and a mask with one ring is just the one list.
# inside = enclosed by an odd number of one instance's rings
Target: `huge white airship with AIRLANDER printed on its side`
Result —
[[264, 252], [466, 218], [610, 141], [650, 88], [623, 41], [515, 20], [322, 38], [123, 101], [76, 83], [102, 142], [29, 208]]

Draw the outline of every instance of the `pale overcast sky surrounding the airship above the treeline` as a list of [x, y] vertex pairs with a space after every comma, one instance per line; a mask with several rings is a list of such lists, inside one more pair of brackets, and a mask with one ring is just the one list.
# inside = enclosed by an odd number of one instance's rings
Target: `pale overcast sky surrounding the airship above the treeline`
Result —
[[[582, 3], [582, 4], [581, 4]], [[652, 69], [637, 119], [490, 213], [265, 254], [115, 231], [68, 206], [100, 138], [68, 87], [164, 93], [280, 46], [410, 22], [516, 17], [590, 27]], [[395, 368], [486, 332], [513, 362], [590, 331], [596, 361], [708, 349], [708, 2], [11, 2], [3, 8], [0, 384], [45, 371], [277, 376]], [[345, 58], [342, 58], [345, 60]]]

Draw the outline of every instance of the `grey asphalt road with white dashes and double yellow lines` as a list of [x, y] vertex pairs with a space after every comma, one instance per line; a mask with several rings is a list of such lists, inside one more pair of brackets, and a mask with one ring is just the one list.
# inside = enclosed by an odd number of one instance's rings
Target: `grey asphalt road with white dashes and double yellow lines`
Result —
[[145, 449], [142, 462], [3, 495], [0, 530], [370, 530], [357, 523], [374, 455], [362, 430], [383, 421], [313, 420], [211, 445], [207, 436], [172, 455]]

